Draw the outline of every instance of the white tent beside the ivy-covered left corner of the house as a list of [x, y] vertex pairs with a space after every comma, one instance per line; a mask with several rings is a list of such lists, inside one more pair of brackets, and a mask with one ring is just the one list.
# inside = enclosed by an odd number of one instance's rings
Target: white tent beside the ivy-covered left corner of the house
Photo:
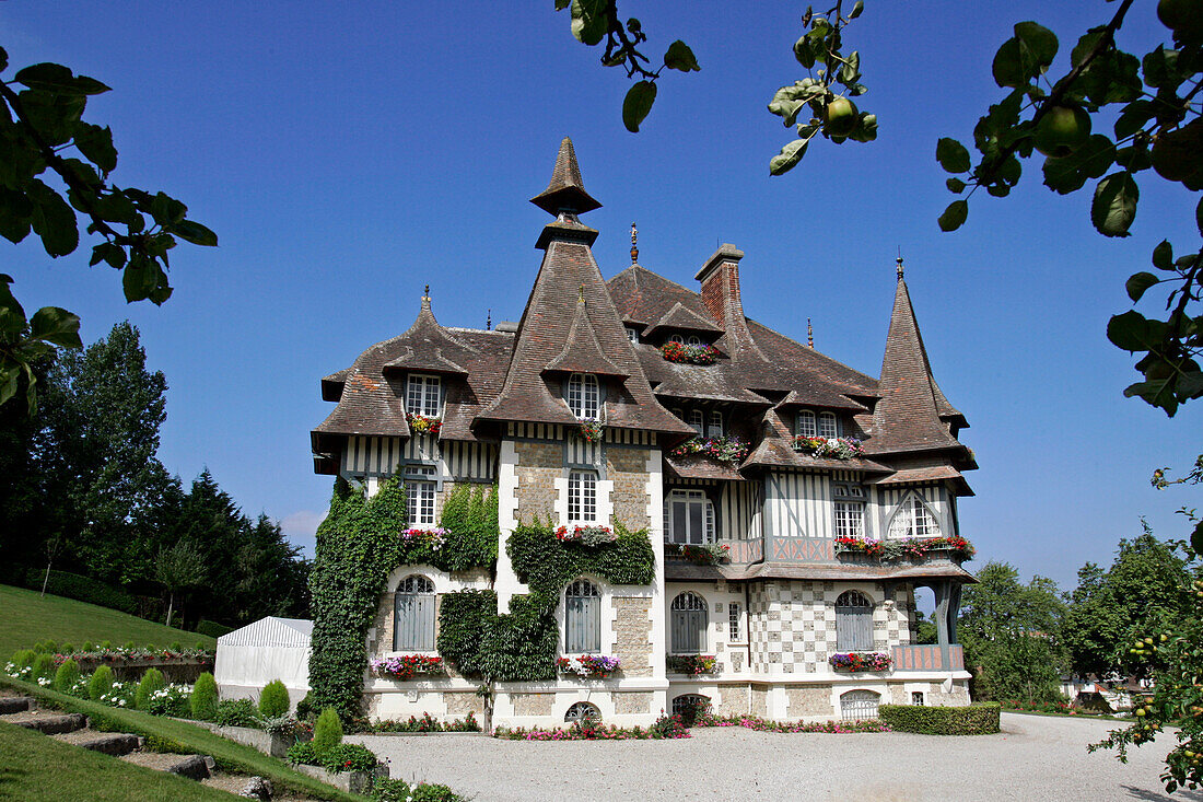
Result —
[[261, 618], [218, 638], [214, 679], [221, 698], [257, 698], [279, 679], [295, 707], [309, 690], [309, 638], [313, 621]]

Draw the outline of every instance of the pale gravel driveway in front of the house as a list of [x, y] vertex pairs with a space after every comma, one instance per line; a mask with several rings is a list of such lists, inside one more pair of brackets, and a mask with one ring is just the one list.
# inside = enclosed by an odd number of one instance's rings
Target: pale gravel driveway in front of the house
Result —
[[1113, 721], [1002, 715], [995, 736], [806, 735], [695, 729], [680, 741], [497, 741], [355, 736], [393, 777], [444, 783], [479, 802], [539, 800], [1166, 800], [1162, 736], [1131, 754], [1086, 754]]

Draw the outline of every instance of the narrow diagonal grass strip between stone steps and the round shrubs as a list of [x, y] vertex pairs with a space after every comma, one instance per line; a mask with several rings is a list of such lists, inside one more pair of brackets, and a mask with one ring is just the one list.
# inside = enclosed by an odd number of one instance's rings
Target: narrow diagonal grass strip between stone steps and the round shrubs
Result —
[[[138, 710], [126, 710], [115, 707], [107, 707], [96, 702], [89, 702], [73, 696], [57, 694], [46, 688], [40, 688], [30, 683], [11, 679], [0, 676], [0, 686], [8, 685], [23, 694], [36, 696], [45, 707], [57, 707], [72, 713], [83, 713], [91, 720], [93, 729], [111, 732], [132, 732], [148, 739], [156, 739], [152, 743], [159, 751], [180, 751], [184, 754], [211, 755], [217, 761], [219, 768], [238, 772], [242, 774], [259, 774], [272, 780], [278, 789], [291, 789], [319, 800], [332, 800], [333, 802], [360, 802], [365, 797], [344, 794], [338, 789], [326, 785], [314, 778], [302, 774], [289, 766], [285, 761], [269, 757], [261, 751], [244, 747], [233, 741], [217, 736], [208, 730], [185, 724], [149, 713]], [[172, 748], [174, 747], [174, 748]], [[4, 751], [0, 750], [0, 755]], [[0, 766], [4, 765], [0, 759]], [[2, 769], [0, 769], [2, 771]], [[63, 798], [87, 798], [87, 797], [59, 797]], [[128, 797], [138, 798], [138, 797]], [[189, 798], [189, 797], [179, 797]]]

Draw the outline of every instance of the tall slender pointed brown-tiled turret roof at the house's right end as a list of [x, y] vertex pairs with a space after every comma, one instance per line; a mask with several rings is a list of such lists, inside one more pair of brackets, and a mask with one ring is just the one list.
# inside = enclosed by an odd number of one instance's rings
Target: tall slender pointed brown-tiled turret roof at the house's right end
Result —
[[964, 450], [953, 432], [966, 425], [965, 418], [948, 402], [931, 375], [901, 258], [878, 391], [881, 401], [873, 408], [872, 437], [865, 444], [871, 453]]

